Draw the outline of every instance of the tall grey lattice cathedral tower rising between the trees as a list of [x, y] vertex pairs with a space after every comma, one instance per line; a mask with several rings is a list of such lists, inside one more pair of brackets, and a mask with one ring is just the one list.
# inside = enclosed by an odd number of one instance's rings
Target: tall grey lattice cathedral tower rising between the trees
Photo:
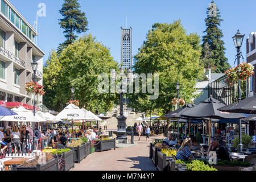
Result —
[[131, 58], [131, 27], [121, 27], [121, 64], [124, 69], [131, 69], [133, 67]]

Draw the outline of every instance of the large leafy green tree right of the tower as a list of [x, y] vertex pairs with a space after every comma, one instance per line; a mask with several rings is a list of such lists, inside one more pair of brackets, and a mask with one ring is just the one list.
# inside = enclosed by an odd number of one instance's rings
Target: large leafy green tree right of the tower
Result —
[[[155, 23], [148, 31], [146, 41], [135, 56], [134, 72], [159, 74], [159, 98], [148, 100], [150, 94], [131, 94], [130, 103], [139, 111], [172, 110], [172, 98], [177, 97], [176, 83], [180, 83], [180, 98], [191, 102], [196, 79], [201, 78], [200, 37], [186, 34], [180, 20], [174, 23]], [[139, 104], [146, 102], [148, 108]], [[142, 103], [144, 103], [142, 102]]]

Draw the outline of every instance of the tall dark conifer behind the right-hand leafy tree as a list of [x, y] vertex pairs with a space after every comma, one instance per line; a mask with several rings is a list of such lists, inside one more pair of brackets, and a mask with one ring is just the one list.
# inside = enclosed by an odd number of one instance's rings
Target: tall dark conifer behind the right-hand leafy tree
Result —
[[[214, 3], [214, 1], [212, 1]], [[202, 50], [202, 60], [203, 61], [210, 61], [211, 68], [213, 69], [214, 73], [224, 73], [228, 68], [230, 68], [230, 64], [228, 63], [228, 58], [225, 57], [225, 50], [224, 42], [221, 40], [223, 37], [222, 30], [219, 28], [221, 26], [221, 22], [223, 21], [221, 19], [220, 10], [216, 6], [215, 15], [210, 15], [210, 10], [214, 8], [207, 8], [207, 18], [205, 19], [205, 24], [207, 26], [207, 29], [204, 31], [207, 35], [203, 36], [203, 50]], [[205, 45], [208, 43], [208, 46]], [[208, 54], [208, 51], [210, 50], [210, 55]], [[205, 55], [207, 56], [207, 59], [204, 59]], [[205, 68], [209, 66], [208, 63], [203, 63], [205, 65]]]

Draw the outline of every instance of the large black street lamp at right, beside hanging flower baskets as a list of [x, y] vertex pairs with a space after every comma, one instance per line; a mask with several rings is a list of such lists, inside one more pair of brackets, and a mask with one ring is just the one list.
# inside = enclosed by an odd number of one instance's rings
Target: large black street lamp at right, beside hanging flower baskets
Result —
[[[241, 35], [240, 31], [237, 30], [237, 34], [233, 36], [233, 41], [234, 41], [234, 45], [237, 48], [237, 65], [240, 65], [240, 58], [242, 55], [241, 52], [241, 46], [243, 43], [243, 37], [245, 35]], [[241, 80], [238, 80], [238, 102], [241, 101]], [[238, 144], [238, 151], [242, 152], [243, 151], [243, 144], [242, 144], [242, 121], [241, 119], [239, 119], [239, 144]]]

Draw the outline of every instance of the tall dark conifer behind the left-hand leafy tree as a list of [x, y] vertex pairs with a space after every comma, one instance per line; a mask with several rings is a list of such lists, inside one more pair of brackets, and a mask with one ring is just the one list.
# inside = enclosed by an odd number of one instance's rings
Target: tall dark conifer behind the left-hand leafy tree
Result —
[[88, 21], [85, 13], [79, 10], [80, 7], [77, 0], [64, 0], [62, 8], [59, 11], [63, 18], [59, 19], [59, 24], [60, 27], [64, 29], [63, 33], [67, 40], [60, 44], [58, 53], [76, 40], [77, 35], [75, 35], [75, 32], [80, 34], [88, 30]]

